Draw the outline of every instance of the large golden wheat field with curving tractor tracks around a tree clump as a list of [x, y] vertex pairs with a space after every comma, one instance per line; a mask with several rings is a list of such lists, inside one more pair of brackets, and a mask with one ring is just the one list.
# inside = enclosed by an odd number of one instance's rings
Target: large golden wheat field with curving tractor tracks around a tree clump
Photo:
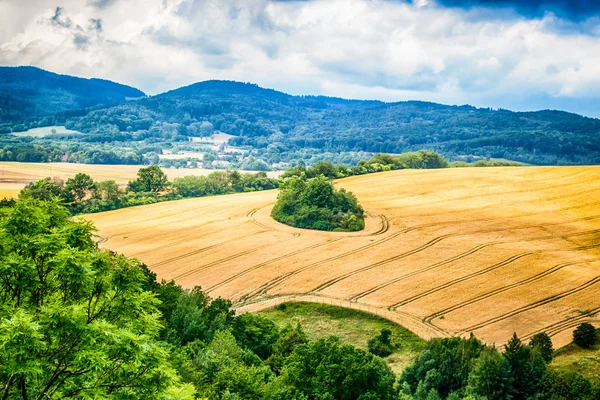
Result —
[[363, 232], [279, 224], [276, 191], [87, 218], [103, 246], [240, 311], [328, 302], [424, 338], [545, 331], [555, 347], [582, 321], [600, 322], [600, 167], [405, 170], [337, 185], [368, 212]]

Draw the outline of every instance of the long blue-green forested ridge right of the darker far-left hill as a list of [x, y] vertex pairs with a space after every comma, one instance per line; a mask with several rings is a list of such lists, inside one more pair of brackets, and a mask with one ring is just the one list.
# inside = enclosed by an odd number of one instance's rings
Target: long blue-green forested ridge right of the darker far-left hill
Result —
[[197, 125], [237, 136], [231, 144], [284, 154], [433, 149], [533, 164], [600, 163], [600, 120], [561, 111], [511, 112], [418, 101], [383, 103], [291, 96], [256, 85], [207, 81], [66, 121], [83, 132], [99, 124], [160, 131], [161, 123]]

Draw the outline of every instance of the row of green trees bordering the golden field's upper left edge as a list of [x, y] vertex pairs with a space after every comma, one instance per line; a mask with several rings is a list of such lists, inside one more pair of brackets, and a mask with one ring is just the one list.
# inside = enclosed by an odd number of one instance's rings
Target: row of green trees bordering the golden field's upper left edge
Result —
[[186, 197], [251, 192], [275, 189], [276, 179], [266, 173], [242, 174], [238, 171], [218, 171], [208, 176], [185, 176], [169, 182], [165, 173], [156, 166], [141, 168], [137, 179], [122, 189], [115, 181], [94, 181], [89, 175], [78, 173], [63, 181], [45, 178], [28, 184], [20, 197], [41, 200], [59, 198], [73, 214], [95, 213], [152, 204]]

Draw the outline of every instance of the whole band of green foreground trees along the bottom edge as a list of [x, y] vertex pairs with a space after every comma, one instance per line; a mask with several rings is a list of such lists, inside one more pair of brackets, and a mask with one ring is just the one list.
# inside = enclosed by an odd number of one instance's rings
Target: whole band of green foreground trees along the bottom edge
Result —
[[[592, 400], [600, 385], [547, 366], [552, 342], [502, 352], [433, 339], [396, 381], [379, 357], [311, 341], [137, 260], [100, 250], [57, 199], [0, 204], [0, 391], [5, 399]], [[581, 330], [581, 329], [578, 329]], [[584, 329], [585, 330], [585, 329]], [[385, 330], [370, 341], [391, 343]]]

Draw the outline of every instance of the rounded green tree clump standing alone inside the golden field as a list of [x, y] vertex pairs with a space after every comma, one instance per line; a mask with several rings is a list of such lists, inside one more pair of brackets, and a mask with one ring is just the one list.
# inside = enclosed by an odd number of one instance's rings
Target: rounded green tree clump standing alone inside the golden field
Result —
[[356, 196], [336, 190], [324, 175], [290, 177], [280, 186], [271, 216], [297, 228], [351, 232], [364, 229], [364, 210]]

